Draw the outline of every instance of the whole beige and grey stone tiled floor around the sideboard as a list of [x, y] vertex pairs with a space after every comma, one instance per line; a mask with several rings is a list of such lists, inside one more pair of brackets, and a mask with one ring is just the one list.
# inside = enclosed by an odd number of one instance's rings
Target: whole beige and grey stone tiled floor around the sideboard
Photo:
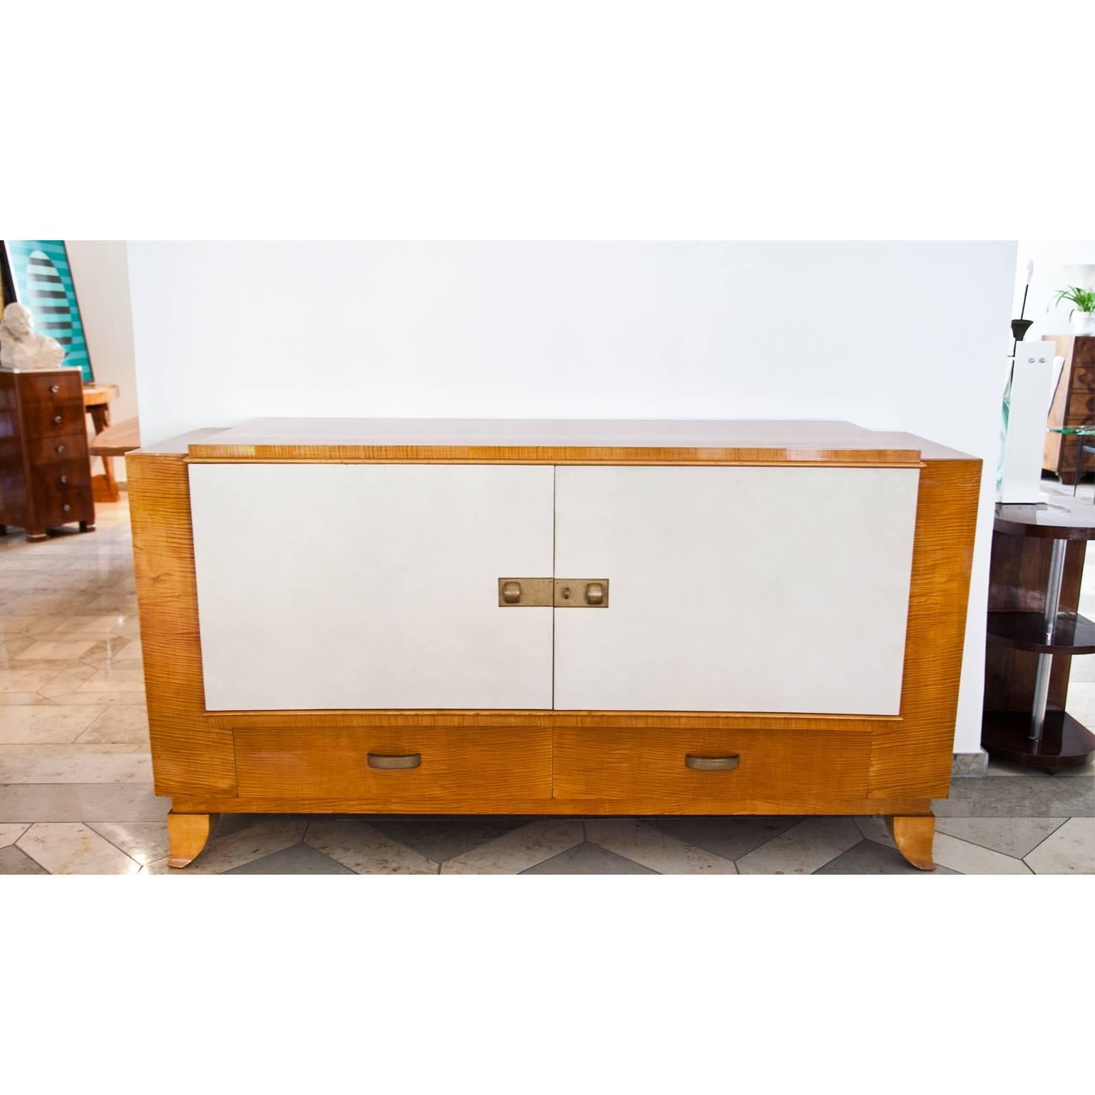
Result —
[[[0, 874], [166, 874], [125, 503], [0, 539]], [[1095, 615], [1095, 550], [1081, 611]], [[1069, 706], [1095, 724], [1095, 658]], [[935, 876], [1095, 873], [1095, 770], [990, 765], [935, 804]], [[911, 874], [878, 818], [223, 817], [198, 874]]]

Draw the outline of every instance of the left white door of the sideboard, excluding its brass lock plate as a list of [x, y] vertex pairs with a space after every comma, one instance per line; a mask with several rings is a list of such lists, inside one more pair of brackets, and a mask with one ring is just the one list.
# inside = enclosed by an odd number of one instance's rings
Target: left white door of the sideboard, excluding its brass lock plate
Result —
[[551, 707], [553, 474], [192, 464], [206, 707]]

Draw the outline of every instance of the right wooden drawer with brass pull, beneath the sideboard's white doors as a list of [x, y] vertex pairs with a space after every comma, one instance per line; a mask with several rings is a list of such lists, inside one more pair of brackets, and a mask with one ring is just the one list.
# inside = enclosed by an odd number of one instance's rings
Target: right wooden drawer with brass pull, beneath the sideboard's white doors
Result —
[[631, 814], [865, 798], [871, 731], [556, 727], [554, 797]]

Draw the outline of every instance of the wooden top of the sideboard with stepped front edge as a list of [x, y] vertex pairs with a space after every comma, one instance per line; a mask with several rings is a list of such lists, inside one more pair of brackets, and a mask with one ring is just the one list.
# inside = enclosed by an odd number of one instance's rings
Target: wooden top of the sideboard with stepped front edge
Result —
[[256, 418], [145, 452], [214, 461], [772, 463], [919, 466], [971, 459], [911, 434], [848, 422]]

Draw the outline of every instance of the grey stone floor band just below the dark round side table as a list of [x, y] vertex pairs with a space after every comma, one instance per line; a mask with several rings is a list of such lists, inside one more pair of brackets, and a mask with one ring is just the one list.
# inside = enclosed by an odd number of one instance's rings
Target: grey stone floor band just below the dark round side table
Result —
[[936, 817], [1060, 818], [1095, 816], [1095, 769], [1047, 775], [1031, 771], [1022, 780], [955, 780], [950, 797], [934, 804]]

